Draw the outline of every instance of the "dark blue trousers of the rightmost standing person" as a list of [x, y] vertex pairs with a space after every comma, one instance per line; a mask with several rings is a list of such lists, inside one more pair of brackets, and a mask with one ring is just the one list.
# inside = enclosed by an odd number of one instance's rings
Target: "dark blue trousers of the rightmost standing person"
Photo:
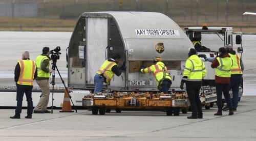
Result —
[[239, 86], [242, 81], [242, 75], [231, 75], [229, 91], [232, 89], [232, 104], [234, 108], [238, 107], [238, 97], [239, 97]]

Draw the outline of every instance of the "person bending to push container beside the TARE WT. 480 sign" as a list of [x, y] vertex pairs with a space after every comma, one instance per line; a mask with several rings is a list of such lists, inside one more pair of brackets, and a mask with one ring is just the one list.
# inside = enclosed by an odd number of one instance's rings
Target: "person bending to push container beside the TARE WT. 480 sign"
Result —
[[156, 65], [152, 65], [150, 67], [144, 68], [145, 66], [142, 65], [140, 72], [141, 73], [153, 73], [156, 78], [157, 82], [157, 89], [160, 93], [167, 94], [170, 86], [172, 85], [172, 77], [167, 71], [167, 67], [162, 62], [161, 57], [157, 57]]

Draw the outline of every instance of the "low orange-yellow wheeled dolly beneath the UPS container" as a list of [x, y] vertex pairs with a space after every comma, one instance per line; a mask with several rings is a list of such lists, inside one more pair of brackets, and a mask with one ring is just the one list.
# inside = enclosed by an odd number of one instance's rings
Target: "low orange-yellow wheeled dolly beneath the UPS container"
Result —
[[92, 114], [105, 115], [115, 109], [120, 113], [122, 109], [152, 109], [164, 110], [167, 116], [179, 116], [180, 110], [186, 114], [189, 107], [187, 94], [153, 94], [114, 92], [102, 95], [90, 94], [82, 99], [83, 107], [92, 109]]

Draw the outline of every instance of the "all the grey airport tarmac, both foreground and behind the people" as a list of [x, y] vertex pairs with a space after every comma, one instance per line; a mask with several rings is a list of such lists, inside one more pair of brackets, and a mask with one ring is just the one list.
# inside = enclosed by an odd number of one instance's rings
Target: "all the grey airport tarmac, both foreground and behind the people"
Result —
[[[31, 59], [44, 46], [61, 46], [57, 65], [67, 82], [66, 47], [69, 32], [0, 32], [0, 86], [14, 85], [13, 71], [25, 50]], [[186, 119], [189, 114], [166, 116], [162, 111], [122, 111], [93, 116], [78, 113], [33, 114], [33, 119], [9, 119], [14, 109], [0, 109], [0, 140], [256, 140], [256, 36], [243, 36], [244, 95], [233, 116], [216, 117], [217, 106], [204, 110], [204, 118]], [[58, 76], [57, 76], [58, 77]], [[59, 81], [59, 79], [58, 79]], [[36, 83], [35, 83], [36, 84]], [[24, 102], [26, 102], [24, 100]], [[190, 112], [188, 112], [190, 113]]]

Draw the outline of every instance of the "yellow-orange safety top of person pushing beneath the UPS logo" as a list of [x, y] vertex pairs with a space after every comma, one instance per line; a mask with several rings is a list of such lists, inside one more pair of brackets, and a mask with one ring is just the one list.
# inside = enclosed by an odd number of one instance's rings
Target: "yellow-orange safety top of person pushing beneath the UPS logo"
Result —
[[156, 65], [152, 65], [150, 67], [147, 67], [145, 69], [140, 70], [142, 73], [153, 73], [153, 75], [156, 78], [157, 82], [157, 88], [159, 85], [159, 82], [163, 79], [164, 77], [164, 72], [165, 72], [165, 79], [172, 80], [172, 77], [169, 75], [167, 72], [166, 66], [163, 64], [163, 62], [157, 62]]

